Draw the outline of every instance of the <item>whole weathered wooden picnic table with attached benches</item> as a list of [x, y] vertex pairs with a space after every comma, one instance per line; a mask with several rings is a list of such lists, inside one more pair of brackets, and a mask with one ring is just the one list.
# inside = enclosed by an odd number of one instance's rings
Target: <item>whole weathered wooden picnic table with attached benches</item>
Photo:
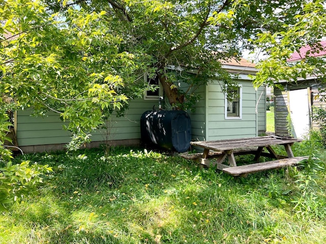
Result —
[[[204, 148], [202, 157], [199, 159], [202, 165], [216, 165], [216, 167], [224, 172], [232, 175], [246, 176], [248, 173], [262, 171], [271, 168], [283, 167], [285, 165], [296, 164], [306, 157], [294, 157], [291, 146], [294, 142], [301, 142], [301, 139], [278, 137], [278, 136], [259, 136], [240, 139], [217, 140], [217, 141], [194, 141], [193, 146]], [[283, 145], [287, 156], [278, 155], [272, 145]], [[266, 151], [266, 150], [267, 151]], [[210, 151], [218, 152], [212, 154]], [[276, 159], [264, 163], [256, 163], [251, 165], [237, 166], [235, 155], [255, 155], [254, 161], [258, 162], [261, 156]], [[214, 162], [208, 158], [217, 158]], [[223, 164], [228, 158], [228, 165]]]

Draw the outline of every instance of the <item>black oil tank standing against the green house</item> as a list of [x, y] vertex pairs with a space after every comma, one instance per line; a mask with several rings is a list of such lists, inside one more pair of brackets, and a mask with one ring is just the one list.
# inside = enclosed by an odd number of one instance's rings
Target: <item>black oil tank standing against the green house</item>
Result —
[[183, 153], [190, 146], [191, 136], [191, 119], [185, 111], [149, 110], [142, 114], [141, 137], [145, 145], [156, 144]]

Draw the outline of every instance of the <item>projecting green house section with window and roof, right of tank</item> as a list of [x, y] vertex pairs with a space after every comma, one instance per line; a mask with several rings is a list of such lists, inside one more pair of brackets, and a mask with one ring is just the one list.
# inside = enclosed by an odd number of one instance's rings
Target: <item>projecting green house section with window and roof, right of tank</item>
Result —
[[238, 75], [239, 98], [228, 101], [217, 80], [201, 87], [202, 98], [191, 114], [192, 134], [195, 140], [220, 140], [254, 137], [266, 132], [266, 90], [253, 88], [248, 75], [257, 72], [254, 64], [241, 59], [224, 68]]

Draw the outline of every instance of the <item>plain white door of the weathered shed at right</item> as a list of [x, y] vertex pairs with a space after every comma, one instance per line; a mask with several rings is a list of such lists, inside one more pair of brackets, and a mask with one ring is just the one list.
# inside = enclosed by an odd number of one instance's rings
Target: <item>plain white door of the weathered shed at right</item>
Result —
[[309, 89], [290, 90], [289, 105], [292, 123], [292, 135], [295, 138], [304, 138], [309, 132], [310, 96]]

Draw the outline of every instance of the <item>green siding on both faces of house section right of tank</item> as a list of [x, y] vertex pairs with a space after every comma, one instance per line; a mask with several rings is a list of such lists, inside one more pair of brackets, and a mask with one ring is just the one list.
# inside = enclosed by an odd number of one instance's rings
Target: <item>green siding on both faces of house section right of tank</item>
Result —
[[[225, 119], [225, 95], [218, 81], [208, 82], [198, 91], [201, 99], [196, 111], [189, 112], [194, 140], [220, 140], [253, 137], [266, 130], [265, 89], [253, 88], [250, 80], [237, 80], [242, 85], [242, 118]], [[260, 97], [256, 114], [256, 105]]]

